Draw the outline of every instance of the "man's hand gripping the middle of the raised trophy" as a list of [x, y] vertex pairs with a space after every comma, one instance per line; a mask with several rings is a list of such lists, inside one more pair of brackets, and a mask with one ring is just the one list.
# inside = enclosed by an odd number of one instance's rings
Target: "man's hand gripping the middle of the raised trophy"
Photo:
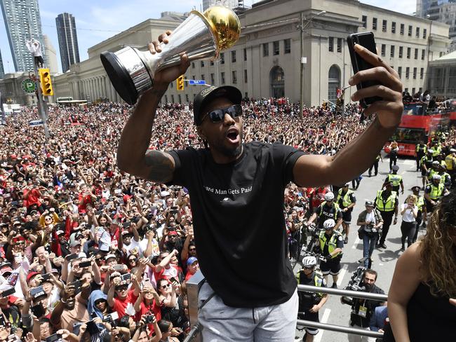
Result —
[[[168, 30], [159, 36], [158, 41], [152, 41], [152, 43], [149, 43], [148, 48], [150, 53], [152, 53], [152, 55], [155, 55], [156, 53], [161, 53], [162, 43], [167, 44], [169, 41], [168, 36], [170, 35], [171, 31]], [[158, 88], [167, 88], [169, 83], [173, 82], [178, 76], [185, 74], [185, 71], [187, 71], [187, 68], [189, 66], [189, 58], [185, 54], [182, 55], [180, 57], [179, 65], [176, 65], [175, 67], [168, 67], [155, 73], [154, 88], [157, 88], [157, 86]]]

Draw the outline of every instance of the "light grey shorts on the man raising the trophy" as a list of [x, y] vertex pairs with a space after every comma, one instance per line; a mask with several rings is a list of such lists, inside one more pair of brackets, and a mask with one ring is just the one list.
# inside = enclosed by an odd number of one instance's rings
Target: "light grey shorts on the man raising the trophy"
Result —
[[[213, 293], [205, 282], [198, 295], [198, 306]], [[226, 306], [220, 296], [213, 296], [199, 311], [204, 342], [295, 340], [298, 297], [297, 289], [288, 301], [260, 308]]]

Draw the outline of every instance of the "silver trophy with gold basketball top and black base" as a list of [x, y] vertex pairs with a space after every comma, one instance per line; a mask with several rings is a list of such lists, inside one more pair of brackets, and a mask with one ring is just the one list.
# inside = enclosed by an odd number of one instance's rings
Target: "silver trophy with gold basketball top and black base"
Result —
[[116, 52], [105, 51], [100, 58], [112, 85], [128, 104], [154, 86], [156, 71], [180, 64], [180, 56], [189, 60], [215, 60], [220, 50], [236, 43], [241, 34], [241, 23], [236, 13], [224, 6], [212, 6], [203, 13], [190, 12], [161, 43], [161, 53], [138, 50], [126, 46]]

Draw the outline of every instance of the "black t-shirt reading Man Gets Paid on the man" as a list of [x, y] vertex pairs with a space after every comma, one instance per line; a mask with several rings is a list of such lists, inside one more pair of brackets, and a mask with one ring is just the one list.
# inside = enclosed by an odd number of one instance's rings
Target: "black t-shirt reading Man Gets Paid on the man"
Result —
[[236, 161], [217, 164], [207, 149], [171, 151], [171, 184], [189, 189], [203, 275], [228, 306], [290, 299], [296, 280], [286, 257], [283, 191], [302, 151], [281, 143], [243, 144]]

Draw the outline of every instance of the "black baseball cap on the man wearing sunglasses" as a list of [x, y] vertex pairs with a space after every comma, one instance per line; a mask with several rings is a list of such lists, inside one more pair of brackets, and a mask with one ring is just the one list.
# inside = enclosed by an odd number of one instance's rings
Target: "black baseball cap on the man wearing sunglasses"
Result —
[[216, 99], [217, 97], [226, 97], [234, 104], [241, 104], [242, 94], [238, 88], [232, 86], [210, 86], [204, 88], [195, 96], [193, 100], [193, 120], [195, 125], [201, 125], [200, 111], [208, 102]]

